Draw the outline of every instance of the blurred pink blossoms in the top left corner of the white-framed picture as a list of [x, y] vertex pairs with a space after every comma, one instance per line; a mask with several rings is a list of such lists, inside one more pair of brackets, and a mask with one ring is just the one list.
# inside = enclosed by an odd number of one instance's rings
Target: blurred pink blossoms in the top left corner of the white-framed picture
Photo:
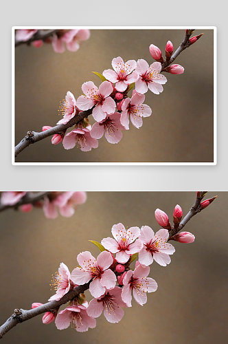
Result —
[[[15, 39], [16, 41], [27, 42], [38, 30], [16, 30]], [[45, 33], [45, 31], [43, 31]], [[32, 41], [34, 47], [42, 47], [43, 43], [52, 43], [54, 52], [65, 52], [65, 46], [70, 52], [76, 52], [82, 41], [89, 39], [90, 31], [89, 30], [56, 30], [45, 39], [38, 39]]]

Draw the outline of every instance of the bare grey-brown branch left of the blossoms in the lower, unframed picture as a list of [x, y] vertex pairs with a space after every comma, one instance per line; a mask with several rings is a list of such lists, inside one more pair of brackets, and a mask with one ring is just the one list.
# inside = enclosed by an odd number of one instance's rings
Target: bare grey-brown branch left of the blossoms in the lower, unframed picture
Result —
[[44, 305], [40, 305], [39, 307], [36, 307], [32, 310], [14, 310], [14, 314], [12, 314], [10, 318], [7, 321], [5, 321], [5, 323], [3, 323], [3, 325], [1, 325], [0, 327], [0, 339], [3, 337], [5, 333], [10, 331], [12, 327], [16, 326], [18, 323], [23, 323], [23, 321], [32, 319], [34, 318], [34, 316], [37, 316], [39, 314], [49, 312], [50, 310], [53, 310], [54, 308], [57, 308], [60, 305], [63, 305], [64, 303], [71, 301], [77, 295], [84, 292], [84, 290], [89, 289], [89, 283], [90, 281], [84, 284], [83, 286], [77, 286], [76, 288], [69, 290], [69, 292], [67, 292], [67, 294], [65, 294], [59, 301], [49, 301]]

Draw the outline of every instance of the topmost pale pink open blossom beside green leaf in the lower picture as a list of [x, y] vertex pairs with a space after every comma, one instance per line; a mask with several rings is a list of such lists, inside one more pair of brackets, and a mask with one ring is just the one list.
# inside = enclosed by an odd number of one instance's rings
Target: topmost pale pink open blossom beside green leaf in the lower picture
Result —
[[107, 237], [102, 239], [101, 244], [106, 250], [116, 253], [115, 259], [118, 263], [126, 263], [130, 255], [139, 252], [143, 247], [142, 242], [137, 239], [140, 235], [138, 227], [130, 227], [126, 230], [123, 224], [115, 224], [112, 228], [112, 234], [115, 239]]

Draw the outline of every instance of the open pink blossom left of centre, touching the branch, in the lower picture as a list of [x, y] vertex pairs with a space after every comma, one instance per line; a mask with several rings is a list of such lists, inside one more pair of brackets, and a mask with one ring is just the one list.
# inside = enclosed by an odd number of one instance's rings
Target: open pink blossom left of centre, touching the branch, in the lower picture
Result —
[[82, 268], [73, 269], [71, 279], [74, 283], [82, 285], [93, 279], [89, 284], [89, 291], [95, 298], [104, 294], [106, 288], [113, 289], [115, 287], [116, 276], [109, 269], [109, 266], [113, 264], [110, 252], [101, 252], [96, 261], [91, 252], [84, 251], [78, 255], [77, 259]]

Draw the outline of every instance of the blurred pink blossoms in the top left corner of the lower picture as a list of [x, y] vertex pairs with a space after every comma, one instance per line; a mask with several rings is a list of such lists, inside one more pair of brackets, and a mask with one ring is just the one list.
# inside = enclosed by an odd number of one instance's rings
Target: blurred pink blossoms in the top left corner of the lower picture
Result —
[[[16, 206], [23, 197], [26, 191], [5, 191], [1, 193], [0, 204], [3, 206]], [[71, 217], [78, 204], [83, 204], [87, 200], [87, 194], [84, 191], [52, 191], [43, 197], [43, 200], [36, 202], [28, 202], [19, 205], [19, 209], [23, 213], [30, 213], [33, 208], [43, 208], [45, 217], [48, 219], [55, 219], [60, 215], [64, 217]]]

